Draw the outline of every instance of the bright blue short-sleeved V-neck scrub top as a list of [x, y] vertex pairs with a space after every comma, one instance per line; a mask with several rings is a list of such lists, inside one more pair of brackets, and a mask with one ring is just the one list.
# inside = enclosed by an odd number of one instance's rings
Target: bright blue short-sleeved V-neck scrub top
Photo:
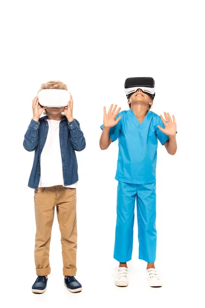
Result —
[[[158, 140], [163, 145], [169, 136], [157, 125], [165, 128], [158, 114], [148, 110], [140, 124], [130, 110], [121, 111], [118, 124], [111, 127], [112, 142], [118, 139], [119, 153], [115, 179], [133, 184], [148, 184], [156, 181]], [[100, 126], [103, 129], [103, 125]]]

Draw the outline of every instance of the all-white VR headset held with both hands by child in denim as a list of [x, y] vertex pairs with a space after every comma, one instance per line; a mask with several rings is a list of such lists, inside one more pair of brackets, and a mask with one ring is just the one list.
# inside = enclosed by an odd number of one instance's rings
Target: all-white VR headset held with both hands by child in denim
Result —
[[66, 107], [70, 100], [70, 92], [64, 89], [43, 89], [38, 92], [41, 107]]

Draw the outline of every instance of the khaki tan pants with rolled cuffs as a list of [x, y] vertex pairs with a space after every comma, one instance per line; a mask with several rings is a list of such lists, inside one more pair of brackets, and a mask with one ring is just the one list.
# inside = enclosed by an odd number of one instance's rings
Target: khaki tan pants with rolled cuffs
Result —
[[35, 267], [37, 276], [50, 274], [49, 250], [51, 229], [56, 207], [61, 233], [63, 275], [76, 275], [77, 222], [76, 189], [56, 185], [38, 187], [34, 191], [35, 205]]

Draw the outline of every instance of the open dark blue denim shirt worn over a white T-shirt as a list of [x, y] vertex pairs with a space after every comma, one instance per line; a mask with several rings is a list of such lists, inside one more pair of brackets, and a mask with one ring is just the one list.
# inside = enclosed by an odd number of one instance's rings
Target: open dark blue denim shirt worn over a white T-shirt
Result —
[[[48, 134], [47, 115], [39, 118], [38, 122], [31, 120], [24, 136], [24, 148], [34, 151], [35, 156], [28, 182], [28, 186], [38, 188], [40, 181], [40, 155], [42, 154]], [[75, 151], [81, 151], [86, 147], [86, 141], [77, 120], [68, 122], [66, 116], [59, 122], [59, 141], [61, 159], [63, 164], [64, 185], [71, 185], [78, 181], [77, 159]], [[55, 162], [54, 162], [55, 163]]]

